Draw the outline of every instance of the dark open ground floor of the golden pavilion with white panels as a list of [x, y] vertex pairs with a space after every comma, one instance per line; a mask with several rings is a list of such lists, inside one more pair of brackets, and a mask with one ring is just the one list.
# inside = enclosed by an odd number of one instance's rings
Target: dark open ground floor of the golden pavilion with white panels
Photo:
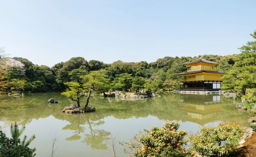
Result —
[[180, 90], [215, 91], [220, 89], [221, 81], [189, 81], [180, 83]]

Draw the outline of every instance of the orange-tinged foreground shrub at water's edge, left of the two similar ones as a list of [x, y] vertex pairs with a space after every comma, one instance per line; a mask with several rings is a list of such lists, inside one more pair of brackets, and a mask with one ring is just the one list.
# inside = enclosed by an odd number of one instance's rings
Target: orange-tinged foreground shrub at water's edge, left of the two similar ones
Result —
[[144, 129], [140, 137], [142, 147], [135, 152], [136, 157], [186, 157], [188, 151], [183, 147], [187, 140], [184, 137], [187, 132], [178, 130], [180, 124], [173, 122], [164, 123], [162, 127], [152, 126], [152, 129]]

